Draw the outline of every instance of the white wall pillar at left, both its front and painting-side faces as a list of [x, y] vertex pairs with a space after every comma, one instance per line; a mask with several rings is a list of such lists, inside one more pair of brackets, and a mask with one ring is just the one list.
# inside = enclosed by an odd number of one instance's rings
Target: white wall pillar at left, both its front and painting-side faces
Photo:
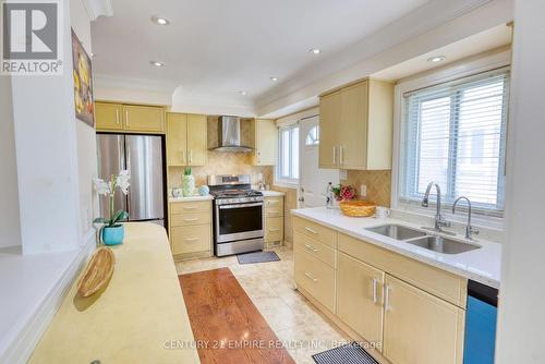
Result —
[[11, 82], [24, 254], [80, 248], [97, 210], [95, 131], [75, 118], [72, 77], [71, 27], [90, 52], [90, 23], [82, 0], [61, 3], [63, 74]]

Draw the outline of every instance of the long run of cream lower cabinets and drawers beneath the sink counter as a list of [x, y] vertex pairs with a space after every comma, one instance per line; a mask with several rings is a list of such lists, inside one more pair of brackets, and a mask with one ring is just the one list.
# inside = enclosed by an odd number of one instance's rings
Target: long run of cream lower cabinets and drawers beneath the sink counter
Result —
[[465, 278], [314, 221], [293, 230], [298, 289], [352, 339], [392, 364], [462, 363]]

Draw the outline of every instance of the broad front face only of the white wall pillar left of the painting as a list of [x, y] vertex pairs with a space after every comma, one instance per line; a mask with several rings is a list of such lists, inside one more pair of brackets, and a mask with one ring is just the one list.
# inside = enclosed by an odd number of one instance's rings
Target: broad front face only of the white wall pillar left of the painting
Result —
[[[69, 4], [63, 4], [64, 14]], [[23, 253], [74, 250], [80, 238], [70, 17], [63, 74], [12, 77]]]

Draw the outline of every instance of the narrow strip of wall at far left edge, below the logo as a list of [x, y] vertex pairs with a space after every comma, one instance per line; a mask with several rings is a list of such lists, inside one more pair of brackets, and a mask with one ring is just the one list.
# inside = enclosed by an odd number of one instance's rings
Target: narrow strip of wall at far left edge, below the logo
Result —
[[21, 245], [11, 77], [0, 76], [0, 247]]

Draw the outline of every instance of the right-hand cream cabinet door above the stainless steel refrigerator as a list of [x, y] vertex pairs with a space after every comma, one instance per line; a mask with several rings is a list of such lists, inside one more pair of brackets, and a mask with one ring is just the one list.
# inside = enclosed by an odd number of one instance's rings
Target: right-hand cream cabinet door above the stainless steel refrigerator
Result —
[[155, 106], [123, 105], [123, 129], [133, 132], [165, 132], [165, 110]]

